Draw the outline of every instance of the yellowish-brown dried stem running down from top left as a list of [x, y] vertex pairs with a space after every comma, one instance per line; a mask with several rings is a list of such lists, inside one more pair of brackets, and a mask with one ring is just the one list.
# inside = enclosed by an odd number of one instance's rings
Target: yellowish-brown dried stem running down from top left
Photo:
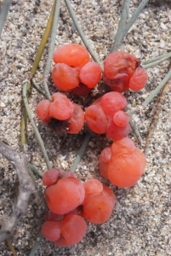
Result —
[[[33, 66], [31, 68], [31, 77], [32, 75], [34, 75], [37, 71], [37, 67], [38, 67], [38, 64], [41, 60], [41, 57], [43, 55], [43, 49], [48, 41], [48, 36], [49, 36], [49, 33], [51, 31], [51, 27], [52, 27], [52, 24], [53, 24], [53, 20], [54, 20], [54, 8], [55, 8], [55, 3], [56, 3], [56, 0], [54, 1], [54, 5], [53, 5], [53, 8], [51, 10], [51, 14], [48, 18], [48, 23], [47, 23], [47, 26], [45, 28], [45, 31], [43, 33], [43, 38], [41, 40], [41, 43], [40, 43], [40, 46], [39, 48], [37, 49], [37, 55], [35, 57], [35, 61], [33, 63]], [[28, 83], [27, 84], [27, 99], [29, 98], [29, 94], [28, 94], [28, 90], [31, 89], [31, 84]], [[25, 106], [23, 106], [21, 108], [21, 113], [22, 113], [22, 117], [21, 117], [21, 124], [20, 124], [20, 150], [22, 150], [22, 147], [23, 145], [26, 144], [26, 122], [27, 122], [27, 113], [26, 113], [26, 108]]]

